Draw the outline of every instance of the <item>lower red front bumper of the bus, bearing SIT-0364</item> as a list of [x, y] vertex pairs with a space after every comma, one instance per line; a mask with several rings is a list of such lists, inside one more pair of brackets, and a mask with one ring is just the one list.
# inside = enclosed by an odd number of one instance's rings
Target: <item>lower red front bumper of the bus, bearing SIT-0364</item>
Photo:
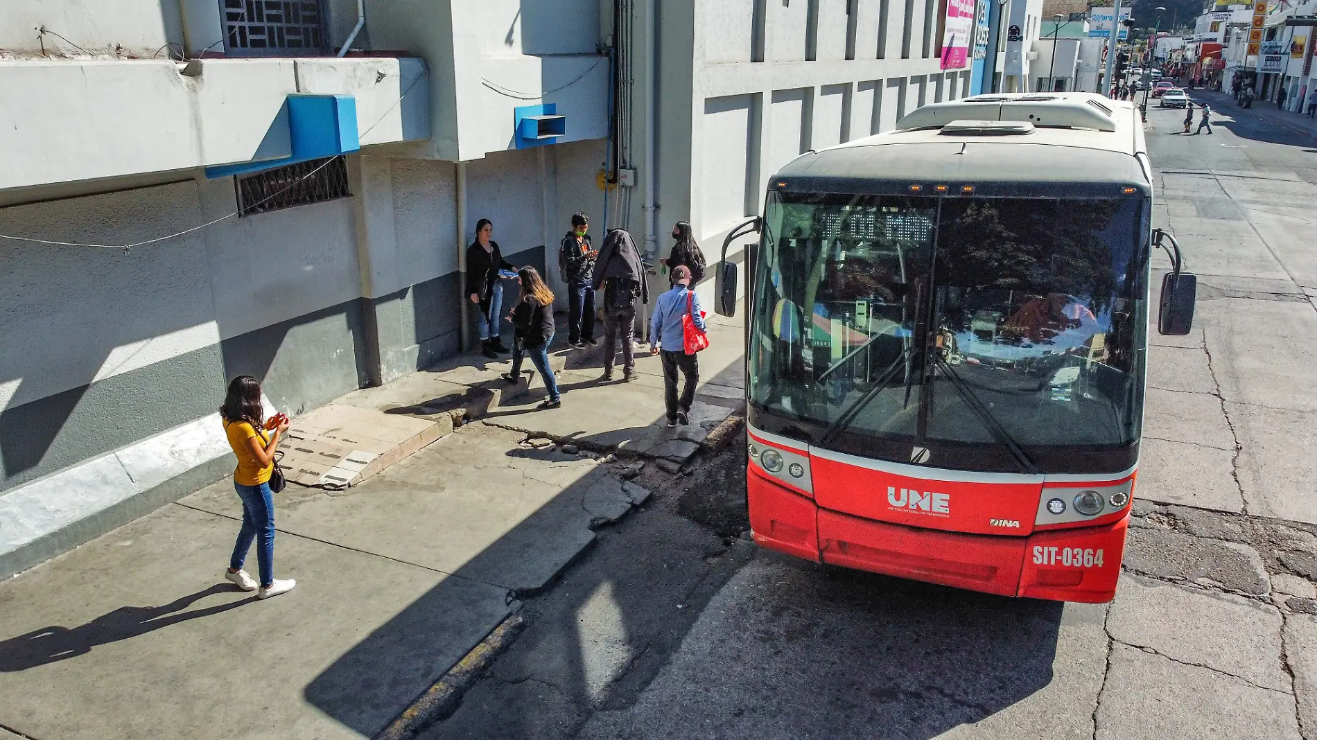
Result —
[[1115, 596], [1127, 514], [1112, 524], [1026, 537], [965, 535], [819, 508], [753, 469], [747, 483], [755, 541], [773, 550], [1006, 596], [1085, 603]]

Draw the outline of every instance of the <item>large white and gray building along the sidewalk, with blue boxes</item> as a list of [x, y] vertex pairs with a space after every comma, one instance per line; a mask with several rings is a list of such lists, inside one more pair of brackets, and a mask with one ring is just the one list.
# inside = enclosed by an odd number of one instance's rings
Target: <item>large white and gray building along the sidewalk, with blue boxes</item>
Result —
[[456, 353], [477, 219], [554, 287], [574, 211], [714, 261], [778, 167], [971, 90], [940, 0], [262, 7], [0, 5], [3, 573], [225, 475], [234, 375], [300, 413]]

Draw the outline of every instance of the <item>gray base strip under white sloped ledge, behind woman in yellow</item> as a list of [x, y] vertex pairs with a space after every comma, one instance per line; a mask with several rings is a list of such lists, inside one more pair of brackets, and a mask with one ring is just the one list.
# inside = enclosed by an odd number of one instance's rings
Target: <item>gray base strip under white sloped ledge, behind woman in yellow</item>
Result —
[[233, 457], [233, 453], [225, 453], [14, 550], [0, 553], [0, 578], [8, 578], [11, 574], [17, 575], [34, 565], [90, 542], [162, 506], [221, 481], [233, 474], [236, 463], [237, 458]]

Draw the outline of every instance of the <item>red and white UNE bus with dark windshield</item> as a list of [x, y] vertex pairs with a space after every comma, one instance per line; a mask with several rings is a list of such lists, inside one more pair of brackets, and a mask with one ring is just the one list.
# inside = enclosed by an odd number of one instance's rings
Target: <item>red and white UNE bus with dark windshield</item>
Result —
[[[1154, 246], [1159, 329], [1193, 275], [1151, 228], [1129, 103], [984, 95], [801, 155], [747, 246], [755, 541], [1011, 596], [1108, 602], [1138, 473]], [[1169, 242], [1169, 246], [1166, 246]]]

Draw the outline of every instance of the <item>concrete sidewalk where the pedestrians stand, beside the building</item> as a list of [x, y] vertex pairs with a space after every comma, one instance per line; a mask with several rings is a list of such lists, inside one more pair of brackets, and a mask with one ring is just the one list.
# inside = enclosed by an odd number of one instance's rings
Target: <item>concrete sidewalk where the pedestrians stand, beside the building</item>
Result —
[[[573, 350], [560, 410], [533, 411], [532, 382], [360, 485], [290, 485], [275, 570], [298, 587], [277, 599], [221, 581], [241, 516], [229, 481], [0, 582], [0, 732], [378, 735], [594, 528], [645, 500], [628, 482], [637, 462], [678, 465], [732, 412], [741, 330], [711, 328], [690, 427], [662, 423], [657, 358], [639, 359], [633, 383], [602, 384], [601, 350]], [[507, 366], [464, 358], [336, 403], [439, 416]]]

